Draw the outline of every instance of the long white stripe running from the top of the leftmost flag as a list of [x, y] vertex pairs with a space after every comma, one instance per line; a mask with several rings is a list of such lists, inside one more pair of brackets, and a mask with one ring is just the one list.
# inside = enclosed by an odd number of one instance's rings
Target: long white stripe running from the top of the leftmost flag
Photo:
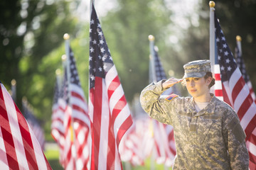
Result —
[[11, 134], [14, 139], [14, 147], [17, 155], [18, 166], [20, 169], [28, 169], [28, 162], [26, 160], [26, 154], [23, 147], [23, 140], [21, 137], [21, 131], [18, 126], [18, 118], [16, 113], [16, 108], [14, 102], [9, 95], [9, 93], [4, 88], [4, 85], [1, 84], [1, 89], [3, 90], [4, 103], [6, 106], [6, 112], [9, 119], [9, 125], [11, 128]]

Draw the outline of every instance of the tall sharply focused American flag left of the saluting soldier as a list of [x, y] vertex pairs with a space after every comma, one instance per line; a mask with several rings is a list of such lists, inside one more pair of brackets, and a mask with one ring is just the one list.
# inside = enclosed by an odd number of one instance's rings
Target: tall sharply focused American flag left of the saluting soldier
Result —
[[122, 169], [119, 142], [132, 116], [92, 4], [90, 19], [91, 169]]

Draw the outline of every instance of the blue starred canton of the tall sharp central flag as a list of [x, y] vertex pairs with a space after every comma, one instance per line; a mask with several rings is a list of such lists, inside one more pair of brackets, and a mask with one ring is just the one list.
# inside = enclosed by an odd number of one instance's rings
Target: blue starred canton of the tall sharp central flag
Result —
[[107, 42], [102, 33], [100, 21], [92, 4], [90, 20], [90, 89], [95, 87], [95, 77], [105, 79], [105, 75], [114, 65]]

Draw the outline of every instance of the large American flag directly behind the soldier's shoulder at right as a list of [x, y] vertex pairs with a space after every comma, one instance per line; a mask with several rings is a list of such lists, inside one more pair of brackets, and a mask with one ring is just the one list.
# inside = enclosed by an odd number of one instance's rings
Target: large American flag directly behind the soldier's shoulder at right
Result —
[[256, 105], [250, 95], [250, 90], [242, 78], [230, 48], [215, 16], [215, 38], [220, 65], [220, 78], [223, 89], [223, 99], [238, 113], [242, 128], [246, 134], [246, 145], [250, 155], [250, 169], [255, 169], [256, 163]]

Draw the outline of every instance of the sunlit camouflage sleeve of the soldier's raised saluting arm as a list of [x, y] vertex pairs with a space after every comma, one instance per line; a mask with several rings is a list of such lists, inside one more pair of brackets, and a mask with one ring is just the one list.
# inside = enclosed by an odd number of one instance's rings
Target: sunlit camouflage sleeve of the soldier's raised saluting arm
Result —
[[171, 125], [170, 115], [166, 113], [166, 109], [164, 107], [164, 98], [160, 98], [161, 94], [165, 90], [162, 87], [163, 82], [164, 80], [159, 81], [156, 84], [152, 83], [149, 84], [149, 86], [146, 86], [140, 96], [140, 102], [144, 111], [146, 111], [151, 118], [159, 120], [161, 123]]

